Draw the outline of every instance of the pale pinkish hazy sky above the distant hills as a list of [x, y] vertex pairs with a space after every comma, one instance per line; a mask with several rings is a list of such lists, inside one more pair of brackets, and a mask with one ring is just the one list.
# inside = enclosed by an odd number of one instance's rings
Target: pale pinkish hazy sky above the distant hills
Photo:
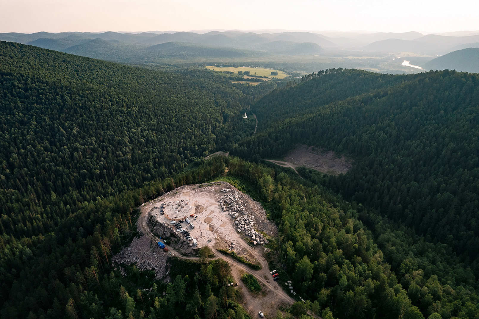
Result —
[[0, 32], [479, 30], [478, 0], [0, 0]]

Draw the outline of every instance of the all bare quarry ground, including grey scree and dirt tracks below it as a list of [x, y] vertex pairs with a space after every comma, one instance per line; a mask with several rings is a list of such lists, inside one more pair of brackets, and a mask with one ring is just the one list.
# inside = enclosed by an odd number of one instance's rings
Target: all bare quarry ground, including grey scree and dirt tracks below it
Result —
[[[253, 318], [259, 318], [258, 311], [260, 310], [267, 317], [273, 317], [276, 315], [277, 307], [291, 305], [295, 302], [295, 299], [286, 294], [280, 286], [285, 284], [285, 278], [281, 278], [277, 282], [273, 281], [268, 263], [263, 256], [265, 247], [259, 241], [253, 247], [247, 243], [247, 241], [252, 241], [251, 236], [253, 235], [264, 244], [267, 242], [266, 239], [277, 237], [276, 226], [267, 219], [266, 213], [259, 203], [253, 201], [250, 196], [239, 192], [231, 184], [213, 182], [202, 184], [201, 187], [200, 185], [182, 186], [141, 205], [139, 208], [141, 216], [138, 218], [137, 227], [140, 238], [135, 239], [129, 247], [114, 256], [114, 262], [120, 267], [122, 273], [124, 272], [122, 264], [135, 263], [140, 269], [154, 269], [157, 278], [163, 278], [168, 282], [171, 281], [166, 267], [168, 258], [174, 256], [198, 260], [198, 257], [191, 253], [208, 245], [215, 252], [215, 258], [223, 258], [230, 263], [231, 273], [244, 297], [244, 308]], [[239, 215], [231, 216], [229, 214], [232, 213], [231, 210], [238, 212]], [[190, 218], [190, 215], [194, 215], [191, 216], [191, 224], [195, 228], [191, 228], [186, 222], [182, 224], [183, 228], [190, 232], [190, 236], [198, 241], [198, 247], [194, 247], [192, 241], [186, 240], [176, 230], [174, 224], [171, 224], [172, 220], [184, 219], [186, 216]], [[241, 232], [238, 229], [242, 229]], [[170, 240], [171, 245], [167, 245], [169, 252], [161, 250], [156, 245], [156, 242], [160, 240], [160, 233]], [[251, 270], [243, 263], [219, 253], [217, 251], [219, 248], [227, 251], [232, 249], [239, 256], [253, 263], [261, 264], [262, 269]], [[262, 285], [260, 295], [253, 296], [249, 292], [241, 282], [241, 273], [251, 273], [257, 278]]]

